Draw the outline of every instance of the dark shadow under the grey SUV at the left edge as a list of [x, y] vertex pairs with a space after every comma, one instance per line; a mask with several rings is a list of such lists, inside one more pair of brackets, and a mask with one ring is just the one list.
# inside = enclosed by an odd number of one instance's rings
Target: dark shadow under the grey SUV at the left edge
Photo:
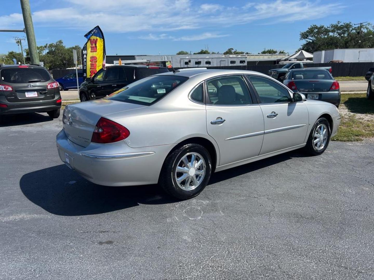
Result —
[[14, 115], [2, 115], [0, 127], [12, 127], [16, 125], [36, 124], [39, 122], [53, 121], [47, 114], [23, 113]]

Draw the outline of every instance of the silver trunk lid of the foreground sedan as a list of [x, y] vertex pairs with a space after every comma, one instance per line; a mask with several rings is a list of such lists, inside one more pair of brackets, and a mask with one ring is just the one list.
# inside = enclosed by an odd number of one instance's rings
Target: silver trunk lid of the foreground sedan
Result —
[[101, 117], [112, 113], [140, 109], [144, 105], [98, 99], [66, 106], [62, 118], [63, 128], [68, 139], [80, 146], [91, 143], [92, 133]]

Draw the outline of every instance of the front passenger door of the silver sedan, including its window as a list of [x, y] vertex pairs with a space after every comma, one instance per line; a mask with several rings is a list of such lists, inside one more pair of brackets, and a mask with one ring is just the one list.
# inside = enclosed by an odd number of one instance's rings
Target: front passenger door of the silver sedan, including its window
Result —
[[264, 117], [264, 141], [260, 155], [305, 143], [309, 125], [306, 105], [292, 102], [289, 90], [263, 76], [247, 75], [255, 89]]

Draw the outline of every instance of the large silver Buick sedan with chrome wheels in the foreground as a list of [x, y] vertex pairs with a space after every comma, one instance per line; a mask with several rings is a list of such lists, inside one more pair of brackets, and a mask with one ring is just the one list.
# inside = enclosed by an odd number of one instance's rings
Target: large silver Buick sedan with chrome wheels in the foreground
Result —
[[301, 148], [321, 155], [340, 115], [258, 72], [183, 69], [67, 105], [62, 123], [59, 157], [87, 180], [190, 199], [213, 172]]

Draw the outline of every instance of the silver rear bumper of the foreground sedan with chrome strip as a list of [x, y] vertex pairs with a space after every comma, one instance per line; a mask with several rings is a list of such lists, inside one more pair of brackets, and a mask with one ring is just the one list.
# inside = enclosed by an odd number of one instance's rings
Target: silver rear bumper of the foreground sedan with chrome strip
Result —
[[119, 141], [82, 147], [70, 141], [64, 130], [57, 134], [56, 144], [61, 161], [92, 183], [103, 186], [156, 184], [173, 146], [131, 148], [125, 141]]

